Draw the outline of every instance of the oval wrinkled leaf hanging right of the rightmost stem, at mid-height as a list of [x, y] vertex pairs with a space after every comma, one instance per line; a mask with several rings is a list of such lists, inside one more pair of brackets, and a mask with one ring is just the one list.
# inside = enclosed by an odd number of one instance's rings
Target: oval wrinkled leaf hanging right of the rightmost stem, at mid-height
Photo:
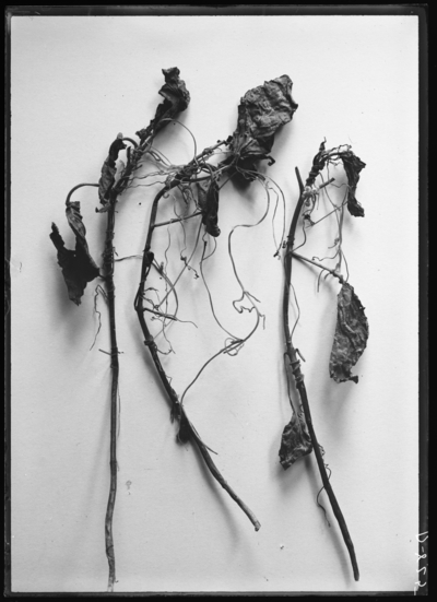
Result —
[[366, 349], [368, 333], [364, 307], [353, 286], [344, 283], [338, 296], [336, 327], [329, 361], [330, 376], [335, 382], [358, 382], [358, 377], [351, 374], [351, 368]]

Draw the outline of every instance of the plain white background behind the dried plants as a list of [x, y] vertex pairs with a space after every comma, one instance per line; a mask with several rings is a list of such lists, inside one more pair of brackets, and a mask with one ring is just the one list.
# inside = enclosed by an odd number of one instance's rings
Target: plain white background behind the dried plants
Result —
[[[114, 516], [117, 591], [411, 590], [416, 581], [417, 456], [417, 20], [414, 16], [12, 17], [12, 589], [105, 591], [104, 518], [109, 489], [107, 308], [98, 319], [95, 283], [83, 303], [68, 299], [48, 237], [56, 222], [72, 248], [64, 199], [97, 181], [116, 134], [134, 138], [161, 102], [161, 70], [177, 66], [191, 93], [180, 120], [198, 151], [226, 138], [249, 88], [288, 74], [299, 107], [276, 135], [276, 160], [261, 170], [281, 186], [288, 226], [297, 201], [295, 166], [306, 177], [323, 137], [353, 145], [366, 163], [357, 198], [365, 219], [347, 217], [343, 250], [350, 282], [366, 307], [370, 335], [355, 368], [359, 383], [336, 385], [328, 362], [336, 281], [294, 263], [300, 307], [294, 341], [306, 358], [316, 433], [332, 469], [361, 569], [324, 494], [316, 504], [314, 455], [283, 471], [277, 450], [291, 418], [282, 361], [283, 270], [273, 259], [274, 194], [258, 228], [233, 235], [238, 273], [260, 299], [261, 328], [237, 357], [221, 356], [185, 403], [224, 477], [261, 522], [252, 526], [210, 477], [176, 425], [142, 343], [133, 297], [140, 261], [117, 263], [120, 355], [118, 495]], [[156, 139], [173, 163], [193, 153], [190, 134], [168, 126]], [[118, 256], [141, 252], [158, 186], [122, 197]], [[78, 191], [93, 257], [101, 262], [106, 217], [95, 188]], [[141, 203], [141, 204], [140, 204]], [[323, 205], [326, 209], [327, 205]], [[223, 189], [221, 236], [204, 272], [220, 320], [239, 335], [255, 316], [238, 315], [240, 290], [227, 256], [238, 223], [265, 209], [258, 184]], [[322, 209], [322, 208], [321, 208]], [[172, 216], [169, 209], [160, 213]], [[280, 203], [276, 238], [281, 236]], [[192, 221], [193, 222], [193, 221]], [[308, 256], [332, 251], [334, 221], [308, 233]], [[173, 226], [175, 278], [180, 226]], [[166, 228], [156, 237], [164, 261]], [[187, 226], [192, 245], [196, 224]], [[308, 249], [308, 250], [307, 250]], [[196, 258], [194, 258], [196, 259]], [[199, 259], [199, 255], [197, 256]], [[193, 263], [196, 265], [196, 262]], [[211, 318], [201, 279], [180, 280], [175, 354], [163, 356], [181, 393], [225, 334]], [[292, 304], [291, 321], [296, 312]], [[162, 343], [165, 349], [165, 342]]]

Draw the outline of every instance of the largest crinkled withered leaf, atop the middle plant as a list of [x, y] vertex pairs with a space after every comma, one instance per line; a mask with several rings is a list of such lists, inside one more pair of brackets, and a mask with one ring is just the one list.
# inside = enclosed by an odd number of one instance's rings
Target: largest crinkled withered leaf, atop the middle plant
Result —
[[[297, 104], [292, 98], [293, 82], [282, 75], [246, 92], [238, 106], [238, 122], [229, 147], [237, 157], [237, 168], [245, 168], [241, 161], [268, 158], [276, 130], [292, 120]], [[248, 175], [249, 179], [252, 179]]]

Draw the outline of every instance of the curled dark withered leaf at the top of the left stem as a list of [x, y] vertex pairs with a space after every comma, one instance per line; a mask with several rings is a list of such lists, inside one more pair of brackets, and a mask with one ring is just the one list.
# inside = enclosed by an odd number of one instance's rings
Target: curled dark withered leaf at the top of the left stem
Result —
[[170, 67], [163, 69], [165, 84], [160, 90], [158, 94], [164, 97], [164, 103], [157, 106], [155, 117], [151, 120], [146, 128], [135, 132], [141, 142], [150, 135], [155, 135], [161, 128], [165, 127], [168, 121], [164, 119], [174, 119], [178, 113], [185, 110], [190, 103], [190, 93], [188, 92], [185, 81], [179, 79], [179, 69]]

